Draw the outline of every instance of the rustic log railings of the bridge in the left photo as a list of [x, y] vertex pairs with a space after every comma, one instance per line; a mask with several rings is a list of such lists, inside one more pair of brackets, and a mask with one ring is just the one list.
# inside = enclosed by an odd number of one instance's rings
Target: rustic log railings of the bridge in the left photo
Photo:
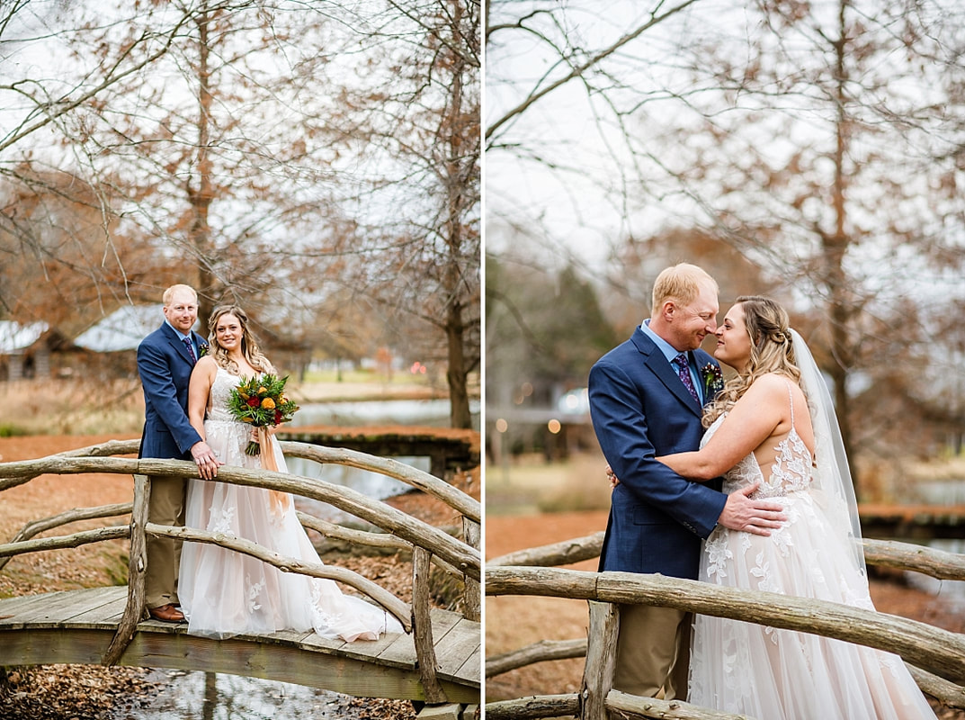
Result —
[[[456, 576], [464, 583], [463, 615], [472, 621], [480, 620], [480, 584], [482, 559], [479, 550], [482, 509], [478, 501], [452, 485], [425, 472], [409, 467], [397, 460], [373, 457], [364, 453], [322, 448], [305, 443], [282, 442], [282, 450], [288, 457], [304, 457], [319, 463], [336, 463], [381, 473], [412, 485], [438, 498], [462, 516], [460, 540], [432, 525], [400, 512], [385, 503], [373, 500], [362, 493], [342, 485], [265, 470], [223, 466], [218, 470], [218, 481], [235, 485], [252, 485], [272, 490], [291, 492], [296, 495], [328, 503], [341, 511], [366, 520], [383, 530], [383, 533], [351, 530], [320, 520], [303, 512], [298, 517], [306, 527], [332, 538], [353, 543], [410, 549], [412, 552], [412, 604], [407, 605], [396, 595], [376, 583], [346, 568], [303, 563], [287, 558], [249, 540], [238, 539], [220, 533], [191, 528], [173, 528], [148, 522], [150, 484], [148, 476], [165, 475], [197, 478], [194, 463], [183, 460], [156, 458], [114, 457], [136, 454], [139, 440], [111, 440], [99, 445], [72, 450], [49, 457], [0, 463], [0, 491], [29, 483], [44, 474], [73, 475], [84, 473], [113, 473], [134, 476], [134, 498], [131, 503], [121, 503], [97, 508], [81, 508], [45, 517], [28, 523], [14, 539], [0, 544], [0, 569], [16, 555], [45, 550], [77, 547], [103, 540], [129, 539], [130, 561], [128, 568], [128, 594], [124, 617], [119, 623], [110, 648], [103, 657], [103, 664], [116, 663], [134, 636], [139, 623], [145, 617], [144, 580], [147, 570], [147, 536], [167, 536], [179, 540], [209, 542], [232, 549], [284, 571], [298, 572], [312, 577], [328, 578], [345, 583], [360, 593], [368, 595], [376, 603], [399, 619], [406, 632], [413, 633], [419, 672], [428, 703], [445, 702], [445, 695], [435, 677], [436, 661], [429, 623], [429, 566], [434, 563]], [[100, 527], [69, 535], [37, 538], [43, 532], [79, 520], [116, 517], [130, 514], [128, 525]]]

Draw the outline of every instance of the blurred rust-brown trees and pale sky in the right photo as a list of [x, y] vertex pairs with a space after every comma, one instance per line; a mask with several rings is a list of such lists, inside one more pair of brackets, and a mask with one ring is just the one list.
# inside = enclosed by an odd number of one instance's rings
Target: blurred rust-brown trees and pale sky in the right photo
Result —
[[[678, 0], [594, 17], [495, 0], [487, 253], [572, 268], [620, 338], [648, 317], [659, 269], [702, 264], [722, 311], [748, 291], [786, 304], [852, 457], [959, 452], [963, 13]], [[534, 323], [518, 316], [525, 346]]]

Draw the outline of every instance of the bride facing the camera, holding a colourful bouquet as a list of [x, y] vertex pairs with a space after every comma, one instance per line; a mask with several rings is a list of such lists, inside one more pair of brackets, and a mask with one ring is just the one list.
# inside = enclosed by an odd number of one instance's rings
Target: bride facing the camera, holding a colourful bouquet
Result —
[[[253, 429], [234, 420], [228, 401], [242, 377], [274, 374], [275, 370], [256, 345], [241, 308], [215, 308], [208, 331], [213, 352], [202, 357], [191, 374], [188, 419], [220, 464], [260, 468], [261, 456], [244, 452], [253, 439]], [[274, 435], [269, 442], [275, 465], [287, 472]], [[270, 464], [268, 460], [266, 464]], [[289, 493], [192, 480], [187, 487], [184, 524], [252, 540], [304, 562], [320, 562], [298, 522]], [[179, 597], [188, 632], [209, 637], [315, 629], [322, 637], [350, 642], [376, 640], [383, 632], [401, 630], [381, 608], [343, 595], [332, 580], [282, 572], [256, 558], [208, 543], [184, 543]]]

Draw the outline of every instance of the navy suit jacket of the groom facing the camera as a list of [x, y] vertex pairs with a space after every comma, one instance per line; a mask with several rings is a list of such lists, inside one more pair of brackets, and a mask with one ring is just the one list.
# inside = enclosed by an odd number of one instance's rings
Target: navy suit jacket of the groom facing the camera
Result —
[[[207, 342], [193, 330], [195, 345]], [[191, 459], [201, 435], [187, 419], [187, 387], [194, 363], [181, 336], [167, 322], [137, 346], [137, 372], [144, 387], [144, 432], [139, 457]]]

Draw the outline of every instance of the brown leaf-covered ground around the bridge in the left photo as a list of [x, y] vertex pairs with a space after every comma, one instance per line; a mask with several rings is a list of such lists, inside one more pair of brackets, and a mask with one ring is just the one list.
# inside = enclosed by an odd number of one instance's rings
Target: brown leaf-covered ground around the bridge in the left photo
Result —
[[[76, 435], [0, 438], [0, 457], [3, 461], [44, 457], [106, 439], [104, 436]], [[478, 470], [459, 476], [454, 485], [479, 499]], [[71, 508], [129, 502], [132, 492], [133, 479], [130, 476], [43, 475], [3, 492], [0, 541], [11, 540], [30, 520]], [[388, 502], [434, 525], [453, 525], [458, 518], [448, 506], [420, 492], [406, 493]], [[118, 518], [116, 522], [126, 520]], [[103, 524], [103, 520], [74, 523], [66, 531], [55, 530], [52, 534]], [[0, 597], [114, 585], [123, 580], [126, 562], [125, 540], [18, 556], [0, 571]], [[411, 566], [398, 556], [340, 556], [332, 562], [365, 575], [406, 602], [411, 600]], [[138, 707], [150, 702], [152, 688], [157, 684], [157, 674], [143, 668], [48, 665], [16, 668], [7, 673], [0, 671], [0, 720], [136, 717]], [[349, 708], [346, 716], [352, 718], [399, 720], [415, 717], [411, 704], [404, 701], [350, 699]]]

